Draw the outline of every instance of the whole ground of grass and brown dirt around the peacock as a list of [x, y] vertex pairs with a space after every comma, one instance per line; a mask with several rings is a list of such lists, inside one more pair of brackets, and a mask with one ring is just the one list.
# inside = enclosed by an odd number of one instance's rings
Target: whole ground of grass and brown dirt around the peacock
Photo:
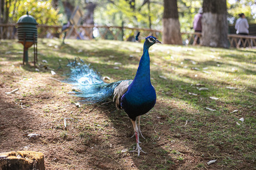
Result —
[[[23, 66], [22, 45], [1, 40], [0, 151], [43, 152], [46, 169], [255, 169], [255, 49], [152, 46], [158, 99], [142, 116], [146, 139], [140, 146], [147, 154], [139, 158], [127, 152], [135, 138], [125, 112], [112, 103], [77, 107], [80, 98], [68, 94], [72, 85], [59, 81], [67, 77], [67, 58], [75, 57], [109, 76], [106, 82], [133, 79], [142, 48], [135, 42], [39, 39], [36, 71], [32, 48], [31, 66]], [[72, 118], [66, 128], [65, 118]], [[39, 136], [28, 138], [31, 133]]]

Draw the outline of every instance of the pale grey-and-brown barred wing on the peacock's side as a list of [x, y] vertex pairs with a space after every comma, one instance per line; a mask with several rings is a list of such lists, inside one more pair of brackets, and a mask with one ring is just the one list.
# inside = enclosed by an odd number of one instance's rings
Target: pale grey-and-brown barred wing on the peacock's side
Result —
[[114, 89], [113, 102], [115, 100], [115, 107], [121, 109], [121, 98], [122, 95], [128, 90], [128, 86], [133, 82], [133, 80], [124, 80]]

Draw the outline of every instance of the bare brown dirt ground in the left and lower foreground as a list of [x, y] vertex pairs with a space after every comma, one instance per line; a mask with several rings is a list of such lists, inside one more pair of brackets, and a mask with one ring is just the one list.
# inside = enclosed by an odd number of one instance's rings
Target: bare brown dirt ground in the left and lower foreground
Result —
[[[163, 124], [155, 110], [166, 107], [172, 114], [183, 112], [174, 102], [160, 99], [155, 108], [142, 117], [141, 147], [147, 154], [127, 152], [135, 146], [133, 126], [123, 111], [114, 105], [97, 104], [77, 107], [77, 98], [69, 95], [70, 84], [62, 83], [46, 71], [31, 71], [20, 62], [1, 62], [0, 74], [0, 151], [32, 150], [44, 154], [46, 169], [253, 169], [251, 162], [226, 168], [206, 163], [224, 159], [218, 151], [204, 151], [203, 143], [196, 143], [184, 122]], [[8, 69], [8, 68], [12, 69]], [[25, 70], [25, 71], [24, 71]], [[31, 74], [28, 71], [31, 71]], [[13, 94], [9, 92], [19, 88]], [[196, 111], [191, 110], [190, 113]], [[150, 115], [150, 116], [149, 116]], [[67, 119], [67, 128], [64, 119]], [[212, 117], [209, 122], [216, 122]], [[147, 123], [146, 122], [150, 122]], [[192, 126], [192, 125], [191, 125]], [[28, 134], [39, 134], [28, 138]], [[204, 128], [198, 132], [207, 133]], [[224, 144], [225, 145], [225, 144]], [[218, 146], [221, 152], [234, 155], [237, 151]], [[217, 160], [218, 161], [218, 160]], [[228, 163], [227, 163], [228, 164]]]

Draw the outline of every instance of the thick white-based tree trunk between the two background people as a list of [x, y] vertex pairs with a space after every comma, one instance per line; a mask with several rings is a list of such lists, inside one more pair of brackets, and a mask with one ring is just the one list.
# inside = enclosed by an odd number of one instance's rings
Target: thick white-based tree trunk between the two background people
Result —
[[228, 48], [226, 0], [204, 0], [201, 45]]

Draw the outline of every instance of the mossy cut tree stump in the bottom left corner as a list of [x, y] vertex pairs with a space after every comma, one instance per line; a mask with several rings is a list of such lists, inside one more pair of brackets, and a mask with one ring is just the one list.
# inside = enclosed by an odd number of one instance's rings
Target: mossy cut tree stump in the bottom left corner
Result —
[[0, 153], [0, 170], [44, 170], [44, 155], [35, 151], [13, 151]]

